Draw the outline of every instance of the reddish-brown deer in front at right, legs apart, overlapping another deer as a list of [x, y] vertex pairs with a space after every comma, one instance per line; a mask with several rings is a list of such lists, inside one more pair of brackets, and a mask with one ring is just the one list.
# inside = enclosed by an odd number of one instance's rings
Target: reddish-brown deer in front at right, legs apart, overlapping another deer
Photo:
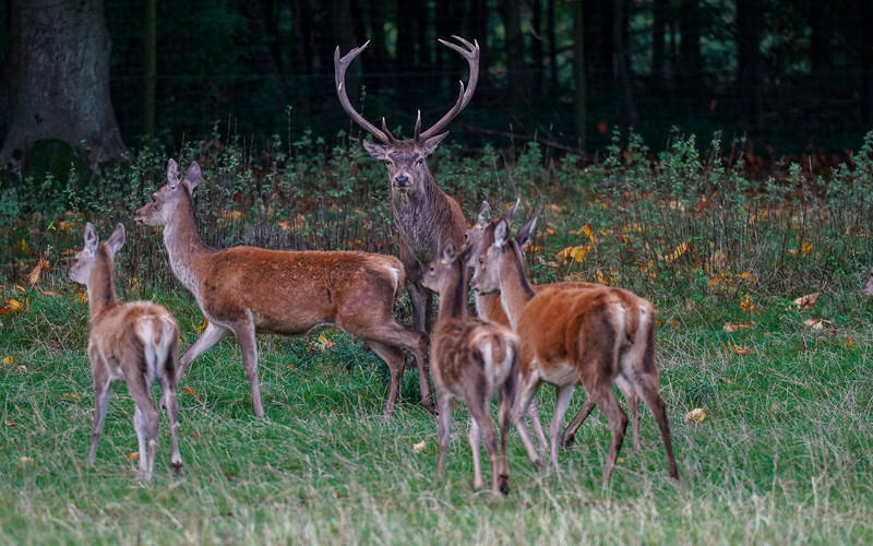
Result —
[[[609, 419], [612, 442], [603, 480], [612, 476], [621, 450], [627, 416], [613, 392], [623, 380], [642, 397], [655, 415], [661, 432], [670, 477], [679, 473], [673, 458], [667, 408], [658, 390], [658, 370], [651, 358], [622, 359], [626, 340], [626, 310], [622, 298], [609, 288], [578, 289], [545, 286], [534, 292], [524, 272], [522, 247], [527, 242], [536, 218], [509, 238], [509, 224], [501, 219], [494, 228], [494, 242], [477, 259], [474, 289], [500, 290], [503, 308], [513, 330], [522, 339], [518, 401], [514, 420], [535, 466], [541, 464], [534, 444], [521, 426], [521, 417], [542, 381], [558, 391], [554, 416], [549, 428], [551, 463], [558, 464], [558, 436], [573, 388], [582, 383], [586, 396]], [[654, 351], [654, 343], [648, 345]]]

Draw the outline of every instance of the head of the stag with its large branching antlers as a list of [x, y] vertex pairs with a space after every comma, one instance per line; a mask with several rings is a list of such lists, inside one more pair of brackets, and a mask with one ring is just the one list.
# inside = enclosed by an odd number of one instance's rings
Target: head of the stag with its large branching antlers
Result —
[[338, 46], [334, 51], [334, 76], [339, 103], [346, 114], [375, 139], [376, 142], [363, 141], [363, 147], [376, 159], [385, 162], [392, 192], [420, 192], [424, 185], [432, 180], [426, 158], [436, 150], [440, 142], [449, 134], [444, 131], [445, 127], [467, 106], [476, 91], [476, 84], [479, 80], [479, 44], [475, 40], [470, 44], [459, 36], [453, 36], [453, 38], [461, 45], [442, 39], [440, 43], [467, 59], [470, 69], [469, 84], [465, 88], [464, 82], [461, 82], [461, 93], [455, 106], [424, 131], [421, 130], [421, 111], [419, 110], [416, 119], [415, 135], [406, 140], [396, 139], [391, 134], [391, 131], [387, 130], [385, 118], [382, 118], [382, 129], [367, 121], [349, 102], [348, 92], [346, 91], [346, 70], [351, 61], [367, 48], [369, 41], [361, 47], [352, 49], [342, 58], [339, 57]]

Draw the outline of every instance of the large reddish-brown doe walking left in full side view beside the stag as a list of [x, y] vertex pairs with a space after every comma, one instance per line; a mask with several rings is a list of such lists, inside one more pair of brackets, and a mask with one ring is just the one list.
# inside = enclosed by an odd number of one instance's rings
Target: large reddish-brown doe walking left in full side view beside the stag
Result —
[[391, 371], [385, 416], [391, 416], [400, 389], [403, 349], [418, 365], [421, 403], [433, 406], [426, 341], [394, 321], [394, 300], [404, 269], [390, 256], [354, 251], [280, 251], [254, 247], [215, 250], [198, 233], [193, 191], [201, 181], [193, 163], [184, 180], [170, 159], [167, 185], [134, 219], [164, 226], [170, 268], [193, 295], [208, 321], [200, 337], [182, 354], [184, 370], [228, 332], [242, 347], [242, 361], [254, 414], [264, 414], [258, 383], [255, 332], [304, 335], [336, 327], [363, 340]]

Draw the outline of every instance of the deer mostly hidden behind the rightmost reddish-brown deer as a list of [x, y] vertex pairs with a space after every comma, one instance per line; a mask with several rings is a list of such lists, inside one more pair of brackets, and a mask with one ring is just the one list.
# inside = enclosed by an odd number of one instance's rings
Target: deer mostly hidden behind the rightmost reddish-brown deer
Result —
[[[473, 227], [470, 227], [470, 229], [467, 232], [467, 244], [474, 248], [468, 262], [470, 266], [475, 266], [475, 260], [479, 258], [481, 251], [494, 242], [494, 228], [498, 222], [503, 219], [509, 225], [513, 215], [515, 214], [515, 211], [518, 209], [519, 202], [521, 200], [516, 200], [515, 204], [510, 207], [501, 218], [493, 218], [490, 203], [488, 201], [482, 202], [476, 224], [474, 224]], [[570, 282], [554, 283], [549, 286], [561, 286], [577, 289], [603, 288], [603, 285], [600, 284]], [[537, 292], [540, 287], [537, 285], [531, 285], [531, 288], [534, 292]], [[649, 347], [649, 344], [654, 343], [655, 340], [655, 309], [653, 308], [651, 304], [647, 299], [642, 298], [630, 290], [617, 287], [612, 287], [610, 290], [615, 293], [615, 295], [622, 300], [622, 305], [625, 308], [626, 323], [624, 332], [627, 336], [627, 341], [621, 346], [620, 358], [635, 360], [646, 357], [654, 358], [654, 347], [651, 349]], [[499, 290], [489, 294], [475, 292], [475, 295], [476, 308], [480, 317], [485, 317], [486, 319], [494, 321], [499, 324], [510, 324], [510, 319], [506, 317], [506, 312], [503, 309], [503, 305], [500, 300]], [[633, 389], [631, 389], [621, 377], [617, 378], [615, 383], [619, 387], [619, 390], [622, 391], [622, 394], [624, 394], [624, 397], [627, 400], [627, 405], [631, 408], [633, 452], [639, 453], [639, 399], [636, 396]], [[563, 440], [561, 441], [561, 444], [564, 448], [570, 448], [573, 446], [576, 438], [576, 432], [578, 431], [579, 427], [582, 427], [582, 424], [585, 422], [588, 415], [590, 415], [591, 411], [594, 411], [594, 407], [595, 403], [590, 399], [586, 399], [579, 411], [571, 420], [570, 425], [567, 425], [566, 429], [564, 429]], [[548, 442], [542, 434], [542, 426], [539, 423], [539, 413], [537, 412], [536, 402], [531, 403], [529, 412], [537, 437], [540, 443], [545, 447], [548, 444]]]

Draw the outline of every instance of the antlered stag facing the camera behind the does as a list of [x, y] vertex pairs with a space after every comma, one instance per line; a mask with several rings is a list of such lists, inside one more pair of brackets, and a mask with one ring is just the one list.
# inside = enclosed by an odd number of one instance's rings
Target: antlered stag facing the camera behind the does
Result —
[[[381, 144], [362, 141], [367, 152], [385, 162], [391, 183], [391, 209], [400, 234], [400, 261], [406, 268], [406, 287], [412, 305], [412, 323], [417, 331], [429, 331], [432, 313], [432, 295], [421, 286], [424, 269], [442, 254], [443, 245], [452, 242], [459, 248], [464, 242], [467, 222], [457, 202], [441, 190], [428, 169], [426, 158], [436, 150], [447, 132], [445, 127], [467, 106], [479, 80], [479, 44], [470, 44], [453, 36], [461, 45], [440, 40], [444, 46], [461, 54], [469, 64], [469, 85], [461, 83], [461, 93], [455, 105], [433, 126], [421, 131], [421, 111], [416, 119], [411, 139], [398, 140], [387, 130], [382, 118], [382, 129], [367, 121], [351, 106], [346, 90], [346, 70], [363, 51], [363, 46], [339, 57], [339, 47], [334, 52], [336, 93], [346, 114]], [[462, 47], [463, 46], [463, 47]]]

